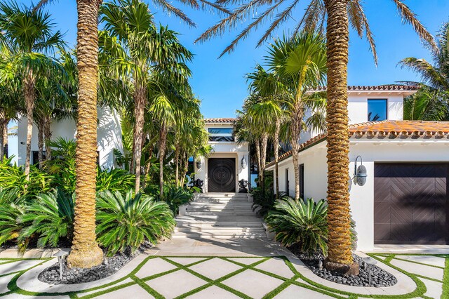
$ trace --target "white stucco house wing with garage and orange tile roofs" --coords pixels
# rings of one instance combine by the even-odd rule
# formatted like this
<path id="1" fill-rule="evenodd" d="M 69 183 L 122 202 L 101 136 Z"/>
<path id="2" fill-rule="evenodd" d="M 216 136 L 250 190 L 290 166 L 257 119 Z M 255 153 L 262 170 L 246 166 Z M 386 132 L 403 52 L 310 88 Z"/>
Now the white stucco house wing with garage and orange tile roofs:
<path id="1" fill-rule="evenodd" d="M 349 173 L 363 164 L 365 185 L 350 184 L 358 249 L 378 244 L 449 244 L 449 122 L 404 121 L 413 86 L 349 86 Z M 307 134 L 306 134 L 307 135 Z M 274 162 L 267 165 L 274 171 Z M 349 180 L 349 178 L 348 178 Z M 300 194 L 326 199 L 326 134 L 300 150 Z M 295 193 L 293 158 L 279 159 L 279 190 Z"/>

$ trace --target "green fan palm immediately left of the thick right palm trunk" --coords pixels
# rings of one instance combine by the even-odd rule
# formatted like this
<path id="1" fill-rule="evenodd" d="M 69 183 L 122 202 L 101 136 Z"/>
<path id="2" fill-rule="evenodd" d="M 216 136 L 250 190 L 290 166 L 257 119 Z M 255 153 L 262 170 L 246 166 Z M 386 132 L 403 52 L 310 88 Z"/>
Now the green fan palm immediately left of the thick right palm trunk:
<path id="1" fill-rule="evenodd" d="M 319 34 L 302 33 L 292 39 L 277 39 L 272 44 L 266 58 L 267 65 L 275 73 L 282 86 L 290 95 L 288 97 L 288 140 L 292 147 L 295 171 L 295 199 L 300 198 L 300 138 L 307 124 L 316 124 L 326 100 L 319 93 L 307 91 L 324 85 L 326 81 L 326 44 Z M 304 121 L 305 113 L 311 117 Z M 321 131 L 325 122 L 318 122 L 318 127 L 311 131 Z"/>

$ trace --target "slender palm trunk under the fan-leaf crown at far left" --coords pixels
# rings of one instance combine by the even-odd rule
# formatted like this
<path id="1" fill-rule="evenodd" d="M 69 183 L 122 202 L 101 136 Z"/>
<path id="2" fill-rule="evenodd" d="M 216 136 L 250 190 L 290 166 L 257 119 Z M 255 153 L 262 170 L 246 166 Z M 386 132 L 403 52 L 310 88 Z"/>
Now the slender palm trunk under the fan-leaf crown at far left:
<path id="1" fill-rule="evenodd" d="M 31 138 L 33 135 L 33 111 L 34 111 L 34 86 L 35 78 L 31 69 L 28 69 L 23 79 L 23 97 L 25 98 L 25 106 L 27 110 L 27 152 L 25 156 L 25 175 L 29 180 L 29 164 L 31 159 Z"/>

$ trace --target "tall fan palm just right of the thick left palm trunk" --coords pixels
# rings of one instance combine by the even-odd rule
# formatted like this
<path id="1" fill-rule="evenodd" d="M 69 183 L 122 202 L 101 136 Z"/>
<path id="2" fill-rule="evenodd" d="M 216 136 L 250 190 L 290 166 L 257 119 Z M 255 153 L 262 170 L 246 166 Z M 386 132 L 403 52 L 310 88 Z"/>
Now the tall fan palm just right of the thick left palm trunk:
<path id="1" fill-rule="evenodd" d="M 101 8 L 102 22 L 105 23 L 107 40 L 116 51 L 114 61 L 117 77 L 128 77 L 133 86 L 134 102 L 134 143 L 133 164 L 136 175 L 135 192 L 140 189 L 140 165 L 144 140 L 145 108 L 148 102 L 148 84 L 152 74 L 159 71 L 187 73 L 185 62 L 192 58 L 183 47 L 175 32 L 166 27 L 159 31 L 154 27 L 147 4 L 140 0 L 117 0 Z M 125 22 L 123 22 L 125 20 Z M 114 37 L 116 43 L 114 44 Z M 166 128 L 166 126 L 163 126 Z M 165 131 L 161 131 L 162 139 Z M 163 141 L 163 140 L 162 140 Z"/>

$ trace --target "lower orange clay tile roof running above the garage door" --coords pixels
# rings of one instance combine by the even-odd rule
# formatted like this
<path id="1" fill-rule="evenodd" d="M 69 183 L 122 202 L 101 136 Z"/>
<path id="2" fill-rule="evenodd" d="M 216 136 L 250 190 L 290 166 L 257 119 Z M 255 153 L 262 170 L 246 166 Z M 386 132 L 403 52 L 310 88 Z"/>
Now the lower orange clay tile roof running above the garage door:
<path id="1" fill-rule="evenodd" d="M 300 151 L 314 146 L 326 140 L 327 134 L 323 133 L 307 140 L 300 145 Z M 349 125 L 349 138 L 383 139 L 387 138 L 449 138 L 449 121 L 368 121 L 361 124 Z M 279 156 L 279 161 L 291 157 L 288 151 Z M 274 161 L 266 167 L 273 166 Z"/>

